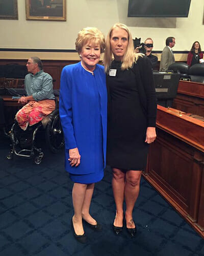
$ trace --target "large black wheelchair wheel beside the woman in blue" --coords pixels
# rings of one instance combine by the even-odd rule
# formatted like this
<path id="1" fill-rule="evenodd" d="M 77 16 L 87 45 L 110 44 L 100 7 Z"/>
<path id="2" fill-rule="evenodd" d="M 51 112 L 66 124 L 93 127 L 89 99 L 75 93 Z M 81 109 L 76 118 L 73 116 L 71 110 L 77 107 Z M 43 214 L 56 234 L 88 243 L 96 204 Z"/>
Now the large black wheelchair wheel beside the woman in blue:
<path id="1" fill-rule="evenodd" d="M 55 110 L 46 127 L 46 141 L 50 151 L 57 153 L 64 146 L 64 135 L 60 122 L 59 111 Z"/>

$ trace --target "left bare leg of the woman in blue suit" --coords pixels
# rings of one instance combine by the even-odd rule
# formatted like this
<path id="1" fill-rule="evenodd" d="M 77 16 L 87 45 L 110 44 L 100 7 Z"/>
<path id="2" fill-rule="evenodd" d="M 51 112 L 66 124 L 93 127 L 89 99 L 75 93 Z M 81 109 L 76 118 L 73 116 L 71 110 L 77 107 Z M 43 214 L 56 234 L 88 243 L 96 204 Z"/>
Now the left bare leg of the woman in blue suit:
<path id="1" fill-rule="evenodd" d="M 77 235 L 84 234 L 82 224 L 82 207 L 86 195 L 87 184 L 74 183 L 72 189 L 72 202 L 74 215 L 72 218 L 74 231 Z"/>

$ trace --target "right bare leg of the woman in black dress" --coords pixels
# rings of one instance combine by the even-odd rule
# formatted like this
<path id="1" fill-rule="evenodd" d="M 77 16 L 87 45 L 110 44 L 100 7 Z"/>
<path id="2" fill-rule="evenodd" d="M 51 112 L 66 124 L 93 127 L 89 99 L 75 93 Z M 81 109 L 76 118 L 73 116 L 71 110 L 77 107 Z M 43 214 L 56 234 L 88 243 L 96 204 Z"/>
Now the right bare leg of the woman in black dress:
<path id="1" fill-rule="evenodd" d="M 135 227 L 133 221 L 133 209 L 139 195 L 141 175 L 141 170 L 128 170 L 125 175 L 124 196 L 126 203 L 125 220 L 127 228 Z"/>

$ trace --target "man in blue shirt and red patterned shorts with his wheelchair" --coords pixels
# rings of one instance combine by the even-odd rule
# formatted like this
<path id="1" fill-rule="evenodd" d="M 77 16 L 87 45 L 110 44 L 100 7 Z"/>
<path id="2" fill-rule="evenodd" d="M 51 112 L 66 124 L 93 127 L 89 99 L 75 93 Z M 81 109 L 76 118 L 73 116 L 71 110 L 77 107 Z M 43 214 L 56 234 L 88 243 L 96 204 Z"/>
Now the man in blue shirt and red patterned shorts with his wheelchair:
<path id="1" fill-rule="evenodd" d="M 30 57 L 26 66 L 30 72 L 24 80 L 27 96 L 18 100 L 25 105 L 16 113 L 16 122 L 10 132 L 12 149 L 7 158 L 12 159 L 13 153 L 23 157 L 32 157 L 37 153 L 35 162 L 40 163 L 43 153 L 41 148 L 35 146 L 34 139 L 41 121 L 49 115 L 45 138 L 54 153 L 64 145 L 63 132 L 59 111 L 56 109 L 52 76 L 43 71 L 42 61 L 38 57 Z"/>

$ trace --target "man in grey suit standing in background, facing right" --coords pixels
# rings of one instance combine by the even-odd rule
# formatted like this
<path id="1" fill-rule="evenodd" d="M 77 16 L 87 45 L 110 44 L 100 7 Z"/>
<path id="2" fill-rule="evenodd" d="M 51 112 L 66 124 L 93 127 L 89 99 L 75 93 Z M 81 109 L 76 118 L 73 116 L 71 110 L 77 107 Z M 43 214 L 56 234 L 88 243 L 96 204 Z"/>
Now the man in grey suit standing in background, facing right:
<path id="1" fill-rule="evenodd" d="M 166 38 L 166 46 L 162 52 L 161 61 L 160 61 L 160 71 L 167 71 L 168 67 L 175 62 L 172 48 L 175 45 L 175 38 L 170 36 Z"/>

